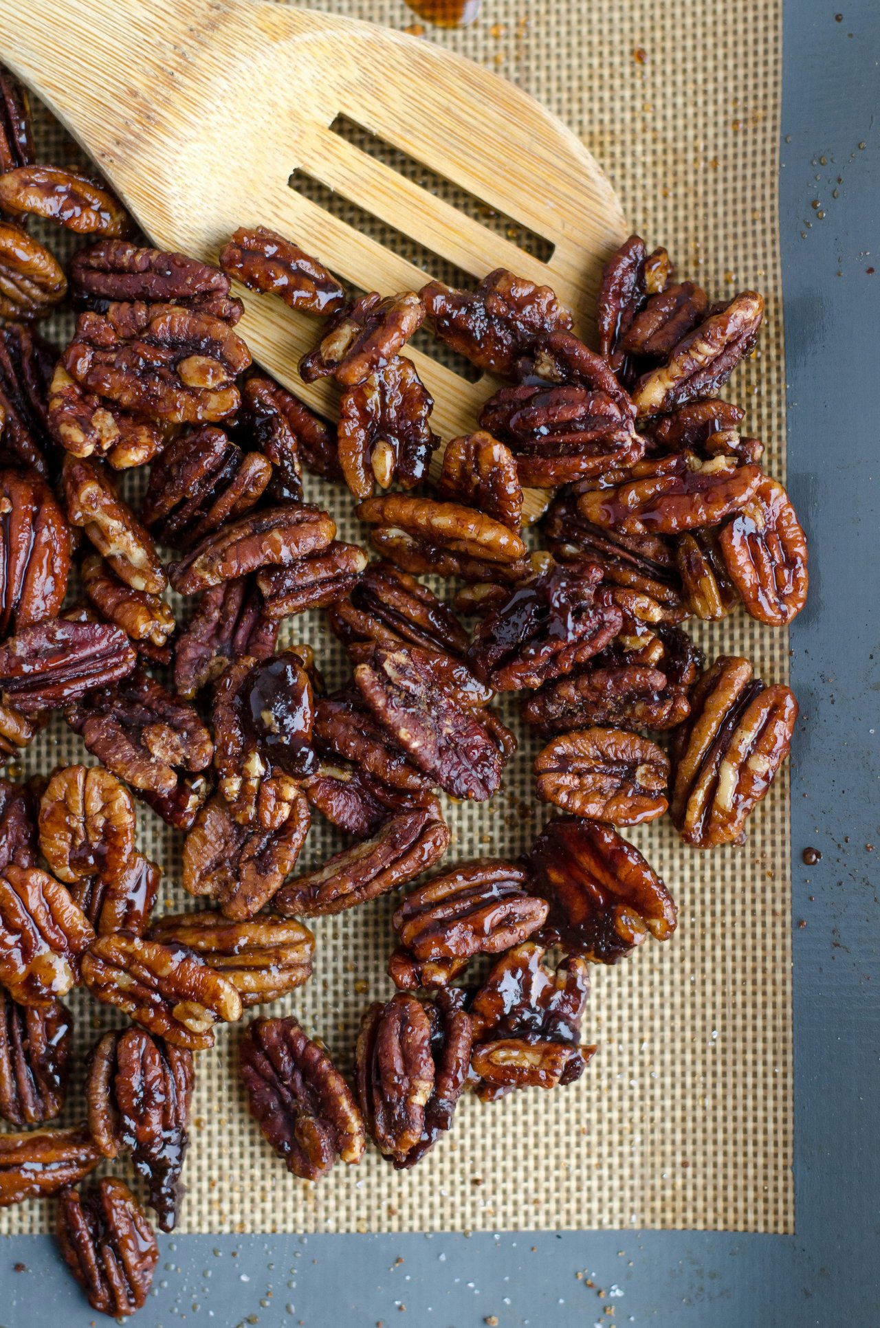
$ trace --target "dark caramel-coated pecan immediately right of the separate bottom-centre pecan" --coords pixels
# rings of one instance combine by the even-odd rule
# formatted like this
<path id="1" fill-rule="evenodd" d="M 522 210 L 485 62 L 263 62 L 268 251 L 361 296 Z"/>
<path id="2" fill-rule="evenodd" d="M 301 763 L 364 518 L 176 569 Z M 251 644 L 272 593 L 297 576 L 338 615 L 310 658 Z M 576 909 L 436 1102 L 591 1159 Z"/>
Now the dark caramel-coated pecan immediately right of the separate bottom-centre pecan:
<path id="1" fill-rule="evenodd" d="M 388 1005 L 368 1005 L 354 1054 L 369 1135 L 396 1167 L 414 1166 L 451 1126 L 467 1081 L 463 992 L 438 992 L 433 1004 L 398 992 Z"/>

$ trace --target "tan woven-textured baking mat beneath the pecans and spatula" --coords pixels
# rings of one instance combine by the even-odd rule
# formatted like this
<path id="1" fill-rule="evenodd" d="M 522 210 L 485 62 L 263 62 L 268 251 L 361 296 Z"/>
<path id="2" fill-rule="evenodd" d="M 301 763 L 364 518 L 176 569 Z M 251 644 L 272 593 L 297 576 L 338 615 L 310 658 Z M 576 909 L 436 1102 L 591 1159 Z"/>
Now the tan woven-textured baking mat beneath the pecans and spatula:
<path id="1" fill-rule="evenodd" d="M 400 0 L 324 8 L 396 28 L 414 21 Z M 609 173 L 633 227 L 668 244 L 678 271 L 711 297 L 765 292 L 759 353 L 738 371 L 733 396 L 767 445 L 770 471 L 784 477 L 779 0 L 484 0 L 474 28 L 431 29 L 429 40 L 496 68 L 563 116 Z M 46 159 L 57 157 L 45 117 L 40 137 Z M 320 254 L 319 236 L 297 239 Z M 333 511 L 342 538 L 354 534 L 338 489 L 311 479 L 308 497 Z M 330 681 L 341 677 L 340 648 L 320 622 L 296 620 L 293 635 L 319 645 Z M 769 681 L 787 676 L 784 632 L 738 612 L 698 635 L 709 652 L 750 656 Z M 532 754 L 524 736 L 491 806 L 447 801 L 447 861 L 526 849 L 543 819 L 530 798 Z M 27 769 L 81 758 L 80 740 L 57 725 L 35 744 Z M 146 810 L 139 825 L 143 849 L 166 871 L 163 907 L 186 906 L 175 884 L 179 837 Z M 595 969 L 584 1037 L 600 1052 L 579 1084 L 492 1106 L 466 1100 L 451 1135 L 413 1171 L 394 1171 L 370 1151 L 360 1167 L 340 1166 L 313 1186 L 287 1174 L 248 1120 L 234 1072 L 239 1031 L 227 1031 L 216 1052 L 198 1057 L 181 1230 L 792 1231 L 786 780 L 753 817 L 745 847 L 701 855 L 682 849 L 668 823 L 632 838 L 672 888 L 680 926 L 672 943 L 648 942 L 619 967 Z M 336 845 L 316 823 L 303 861 Z M 273 1007 L 296 1011 L 345 1068 L 365 1003 L 392 993 L 384 969 L 393 907 L 386 898 L 319 920 L 313 981 Z M 111 1015 L 81 993 L 70 1004 L 81 1060 Z M 82 1110 L 80 1082 L 81 1072 L 68 1120 Z M 1 1220 L 5 1231 L 41 1231 L 50 1212 L 32 1204 Z"/>

